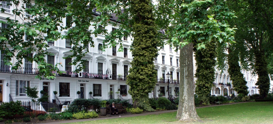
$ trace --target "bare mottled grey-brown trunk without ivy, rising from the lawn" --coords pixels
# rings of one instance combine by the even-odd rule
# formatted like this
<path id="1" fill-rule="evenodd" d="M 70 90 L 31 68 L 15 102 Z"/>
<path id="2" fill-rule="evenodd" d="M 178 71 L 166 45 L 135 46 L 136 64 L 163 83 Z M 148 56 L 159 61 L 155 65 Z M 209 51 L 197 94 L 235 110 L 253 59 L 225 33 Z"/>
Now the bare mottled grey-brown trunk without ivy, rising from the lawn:
<path id="1" fill-rule="evenodd" d="M 193 43 L 180 49 L 180 92 L 176 119 L 181 121 L 198 120 L 194 104 Z"/>

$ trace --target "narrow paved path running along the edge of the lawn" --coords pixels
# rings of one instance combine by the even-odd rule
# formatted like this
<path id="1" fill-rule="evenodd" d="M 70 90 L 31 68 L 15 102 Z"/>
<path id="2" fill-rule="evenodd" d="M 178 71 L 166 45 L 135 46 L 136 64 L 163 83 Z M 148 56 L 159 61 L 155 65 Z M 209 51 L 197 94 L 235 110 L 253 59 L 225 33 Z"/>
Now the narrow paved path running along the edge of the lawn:
<path id="1" fill-rule="evenodd" d="M 195 107 L 195 108 L 206 108 L 206 107 L 214 107 L 214 106 L 239 104 L 239 103 L 246 103 L 246 102 L 237 102 L 237 103 L 211 105 L 211 106 L 201 106 L 201 107 Z M 167 111 L 146 112 L 146 113 L 141 113 L 141 114 L 120 115 L 120 117 L 118 115 L 115 115 L 115 116 L 111 116 L 111 117 L 100 117 L 100 118 L 93 118 L 93 119 L 78 119 L 78 120 L 75 119 L 75 120 L 67 120 L 67 121 L 50 122 L 50 123 L 44 123 L 44 124 L 62 124 L 62 123 L 75 123 L 75 122 L 95 121 L 95 120 L 104 120 L 104 119 L 116 119 L 116 118 L 124 118 L 124 117 L 143 116 L 143 115 L 155 115 L 155 114 L 169 113 L 169 112 L 175 112 L 175 111 L 177 111 L 177 110 L 167 110 Z"/>

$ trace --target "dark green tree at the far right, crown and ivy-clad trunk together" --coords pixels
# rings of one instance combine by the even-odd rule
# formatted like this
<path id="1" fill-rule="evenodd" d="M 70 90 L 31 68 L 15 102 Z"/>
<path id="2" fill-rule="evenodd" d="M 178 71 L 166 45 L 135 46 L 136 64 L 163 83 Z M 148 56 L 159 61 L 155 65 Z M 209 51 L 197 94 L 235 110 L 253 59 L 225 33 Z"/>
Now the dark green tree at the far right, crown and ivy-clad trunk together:
<path id="1" fill-rule="evenodd" d="M 258 75 L 257 83 L 262 97 L 268 94 L 270 78 L 268 63 L 273 52 L 273 1 L 227 1 L 238 18 L 230 20 L 239 29 L 235 35 L 236 48 L 244 69 Z M 269 61 L 268 61 L 269 60 Z"/>

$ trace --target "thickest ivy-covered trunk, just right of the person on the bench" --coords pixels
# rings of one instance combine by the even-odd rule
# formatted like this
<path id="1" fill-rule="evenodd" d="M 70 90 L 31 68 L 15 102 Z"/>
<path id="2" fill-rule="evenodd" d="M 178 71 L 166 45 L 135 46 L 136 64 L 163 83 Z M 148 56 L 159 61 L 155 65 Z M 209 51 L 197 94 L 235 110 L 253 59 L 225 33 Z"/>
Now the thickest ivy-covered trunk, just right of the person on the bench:
<path id="1" fill-rule="evenodd" d="M 134 38 L 131 51 L 134 57 L 132 67 L 127 76 L 128 91 L 137 102 L 147 102 L 148 94 L 157 83 L 157 72 L 154 69 L 154 58 L 158 56 L 159 41 L 156 38 L 158 32 L 154 23 L 154 13 L 151 0 L 132 0 L 130 13 L 132 15 L 132 36 Z M 146 99 L 146 100 L 145 100 Z"/>

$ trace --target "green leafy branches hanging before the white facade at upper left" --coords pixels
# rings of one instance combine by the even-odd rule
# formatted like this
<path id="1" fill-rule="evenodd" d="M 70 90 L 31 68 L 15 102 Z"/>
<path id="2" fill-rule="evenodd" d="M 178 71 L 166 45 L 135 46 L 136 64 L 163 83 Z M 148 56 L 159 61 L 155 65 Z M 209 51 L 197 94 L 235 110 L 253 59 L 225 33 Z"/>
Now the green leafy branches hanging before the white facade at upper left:
<path id="1" fill-rule="evenodd" d="M 52 55 L 47 51 L 50 42 L 54 44 L 54 41 L 58 39 L 71 39 L 70 45 L 72 45 L 71 52 L 73 54 L 64 58 L 73 57 L 70 64 L 77 65 L 75 71 L 78 72 L 84 67 L 83 57 L 89 49 L 85 46 L 94 47 L 92 35 L 105 34 L 106 38 L 111 40 L 108 44 L 110 46 L 116 44 L 113 42 L 115 39 L 119 39 L 120 42 L 123 36 L 121 34 L 123 30 L 107 32 L 105 27 L 111 14 L 108 13 L 109 11 L 103 10 L 113 7 L 104 8 L 105 5 L 99 0 L 12 0 L 8 5 L 13 6 L 14 9 L 11 13 L 14 14 L 12 17 L 15 19 L 8 17 L 6 21 L 0 21 L 2 25 L 5 25 L 2 26 L 0 35 L 0 50 L 5 53 L 5 65 L 12 65 L 10 61 L 13 57 L 17 60 L 12 66 L 12 69 L 15 70 L 23 65 L 23 58 L 34 61 L 38 64 L 40 72 L 36 78 L 41 79 L 41 76 L 44 75 L 44 77 L 52 79 L 55 78 L 52 74 L 53 71 L 61 73 L 58 64 L 51 65 L 45 60 L 46 55 Z M 26 8 L 25 5 L 28 7 Z M 98 7 L 97 11 L 101 11 L 101 13 L 94 16 L 93 9 L 96 7 Z M 1 12 L 4 11 L 6 10 L 1 8 Z M 63 23 L 65 19 L 66 23 Z M 95 27 L 102 25 L 104 29 L 91 30 L 92 25 Z M 113 26 L 115 25 L 116 23 L 113 23 Z M 64 31 L 66 34 L 62 35 L 61 32 Z M 33 57 L 29 56 L 30 53 L 34 53 Z"/>

